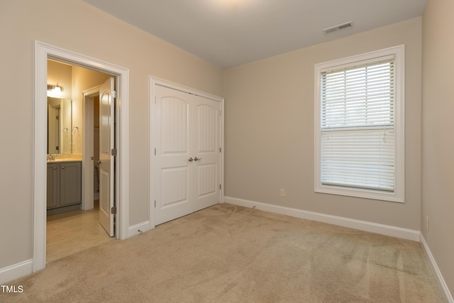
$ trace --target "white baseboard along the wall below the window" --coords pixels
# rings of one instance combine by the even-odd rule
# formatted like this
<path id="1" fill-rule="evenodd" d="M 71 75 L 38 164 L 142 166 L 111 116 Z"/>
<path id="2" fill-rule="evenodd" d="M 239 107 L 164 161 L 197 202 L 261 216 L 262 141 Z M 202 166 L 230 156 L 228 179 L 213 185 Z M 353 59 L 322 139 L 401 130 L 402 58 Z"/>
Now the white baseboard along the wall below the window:
<path id="1" fill-rule="evenodd" d="M 230 204 L 236 204 L 245 207 L 254 207 L 262 211 L 270 211 L 276 214 L 284 214 L 287 216 L 294 216 L 300 219 L 308 219 L 313 221 L 320 221 L 328 224 L 334 224 L 338 226 L 350 227 L 359 229 L 361 231 L 369 231 L 371 233 L 380 233 L 385 236 L 392 236 L 396 238 L 404 238 L 411 241 L 420 240 L 419 231 L 412 229 L 400 228 L 395 226 L 389 226 L 384 224 L 377 224 L 367 221 L 360 221 L 356 219 L 344 218 L 342 216 L 331 216 L 328 214 L 316 213 L 313 211 L 304 211 L 301 209 L 293 209 L 290 207 L 279 206 L 274 204 L 267 204 L 262 202 L 254 202 L 245 199 L 238 199 L 233 197 L 224 197 L 224 202 Z"/>

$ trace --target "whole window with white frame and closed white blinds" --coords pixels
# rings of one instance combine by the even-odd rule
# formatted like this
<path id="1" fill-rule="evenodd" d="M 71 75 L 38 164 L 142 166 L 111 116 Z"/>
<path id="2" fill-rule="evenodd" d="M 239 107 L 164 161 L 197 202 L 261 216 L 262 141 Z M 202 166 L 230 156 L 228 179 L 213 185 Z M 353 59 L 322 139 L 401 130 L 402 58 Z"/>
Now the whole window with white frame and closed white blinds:
<path id="1" fill-rule="evenodd" d="M 315 191 L 404 202 L 404 46 L 315 65 Z"/>

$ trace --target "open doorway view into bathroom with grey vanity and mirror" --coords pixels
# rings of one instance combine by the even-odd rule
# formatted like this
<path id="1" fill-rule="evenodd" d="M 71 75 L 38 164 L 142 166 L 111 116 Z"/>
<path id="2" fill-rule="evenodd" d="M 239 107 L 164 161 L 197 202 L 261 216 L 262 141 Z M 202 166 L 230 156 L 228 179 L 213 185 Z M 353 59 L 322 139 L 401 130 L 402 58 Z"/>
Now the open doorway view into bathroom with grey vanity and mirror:
<path id="1" fill-rule="evenodd" d="M 61 129 L 60 135 L 58 131 L 55 131 L 56 137 L 60 138 L 57 143 L 60 144 L 55 144 L 55 140 L 53 140 L 54 145 L 52 145 L 48 139 L 48 148 L 52 148 L 52 158 L 55 160 L 48 161 L 47 263 L 110 241 L 111 236 L 114 236 L 114 226 L 111 226 L 109 220 L 111 211 L 106 218 L 106 207 L 104 209 L 99 207 L 99 193 L 101 192 L 99 182 L 99 91 L 101 84 L 106 82 L 109 85 L 109 91 L 114 91 L 114 83 L 110 82 L 115 82 L 115 77 L 111 77 L 109 74 L 48 59 L 48 87 L 52 88 L 52 84 L 59 86 L 58 92 L 48 90 L 48 95 L 52 95 L 52 100 L 62 99 L 64 101 L 62 101 L 60 116 L 57 116 L 56 119 L 57 123 L 61 124 L 57 128 Z M 69 109 L 66 109 L 65 105 Z M 52 118 L 53 115 L 49 114 L 49 134 L 52 131 L 51 124 L 55 123 L 55 119 Z M 107 125 L 107 127 L 111 126 Z M 109 136 L 109 131 L 104 132 L 104 136 L 106 135 Z M 52 138 L 52 136 L 48 136 L 48 138 Z M 110 138 L 107 139 L 104 142 L 109 142 Z M 55 145 L 57 145 L 56 148 L 54 148 Z M 67 162 L 69 160 L 74 162 Z M 77 174 L 78 178 L 69 179 L 70 164 L 83 168 Z M 49 167 L 53 167 L 53 170 L 49 170 Z M 60 167 L 65 170 L 61 170 Z M 66 197 L 63 197 L 63 191 L 60 195 L 54 194 L 58 192 L 56 190 L 49 192 L 52 188 L 52 184 L 49 182 L 55 179 L 61 179 L 61 181 L 57 181 L 60 181 L 60 187 L 65 189 L 75 187 L 74 184 L 79 184 L 79 186 L 75 187 L 74 191 L 66 190 Z M 68 181 L 71 184 L 63 184 Z M 109 182 L 107 187 L 109 189 Z M 101 199 L 106 200 L 109 194 L 109 192 L 104 192 Z M 67 197 L 69 195 L 72 197 Z M 50 203 L 55 200 L 57 200 L 56 203 Z M 108 204 L 104 203 L 104 205 Z"/>

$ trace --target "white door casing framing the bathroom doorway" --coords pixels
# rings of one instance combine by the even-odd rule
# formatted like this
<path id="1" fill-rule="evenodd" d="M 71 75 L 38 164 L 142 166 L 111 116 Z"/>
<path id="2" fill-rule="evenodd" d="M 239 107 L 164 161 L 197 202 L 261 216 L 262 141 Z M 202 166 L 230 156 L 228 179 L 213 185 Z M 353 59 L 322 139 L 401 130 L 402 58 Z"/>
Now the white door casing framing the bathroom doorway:
<path id="1" fill-rule="evenodd" d="M 116 76 L 116 238 L 128 236 L 129 225 L 129 70 L 109 62 L 87 57 L 48 43 L 34 44 L 34 134 L 33 134 L 33 272 L 45 268 L 46 257 L 46 142 L 47 142 L 47 60 L 48 58 L 79 65 Z"/>

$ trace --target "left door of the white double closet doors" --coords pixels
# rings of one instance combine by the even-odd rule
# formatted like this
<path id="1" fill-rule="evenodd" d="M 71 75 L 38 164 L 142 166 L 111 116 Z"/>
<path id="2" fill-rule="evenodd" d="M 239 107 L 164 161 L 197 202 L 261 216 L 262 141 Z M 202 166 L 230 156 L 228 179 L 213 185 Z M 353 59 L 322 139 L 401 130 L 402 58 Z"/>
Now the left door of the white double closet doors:
<path id="1" fill-rule="evenodd" d="M 156 87 L 156 224 L 191 211 L 189 103 L 182 92 Z"/>

